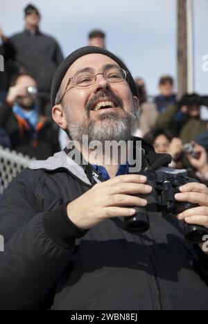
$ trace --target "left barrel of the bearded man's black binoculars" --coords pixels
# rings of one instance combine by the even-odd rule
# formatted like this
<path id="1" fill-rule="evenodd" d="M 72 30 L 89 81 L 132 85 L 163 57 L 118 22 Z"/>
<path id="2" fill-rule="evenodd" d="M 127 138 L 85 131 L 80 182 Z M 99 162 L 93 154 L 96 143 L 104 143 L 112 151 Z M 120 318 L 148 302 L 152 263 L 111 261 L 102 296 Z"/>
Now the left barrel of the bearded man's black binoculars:
<path id="1" fill-rule="evenodd" d="M 152 206 L 155 203 L 155 197 L 157 197 L 157 192 L 154 190 L 157 174 L 154 171 L 146 171 L 140 174 L 147 177 L 148 181 L 146 184 L 153 187 L 153 192 L 150 192 L 150 194 L 146 195 L 139 195 L 139 198 L 143 198 L 148 201 L 148 206 L 132 206 L 132 208 L 136 210 L 135 215 L 132 217 L 124 217 L 125 230 L 130 233 L 137 234 L 145 233 L 150 228 L 148 207 Z"/>

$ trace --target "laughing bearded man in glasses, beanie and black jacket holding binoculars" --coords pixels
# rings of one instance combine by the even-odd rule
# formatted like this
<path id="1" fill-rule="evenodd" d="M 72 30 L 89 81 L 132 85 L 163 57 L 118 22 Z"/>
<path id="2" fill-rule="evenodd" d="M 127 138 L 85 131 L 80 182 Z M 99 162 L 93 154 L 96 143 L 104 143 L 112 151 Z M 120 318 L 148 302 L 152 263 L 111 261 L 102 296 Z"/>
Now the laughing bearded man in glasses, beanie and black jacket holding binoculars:
<path id="1" fill-rule="evenodd" d="M 106 141 L 133 141 L 143 172 L 176 171 L 165 168 L 170 156 L 131 136 L 139 98 L 125 64 L 102 48 L 78 49 L 55 73 L 51 102 L 73 141 L 31 163 L 0 199 L 0 309 L 208 309 L 206 244 L 193 248 L 179 220 L 157 210 L 146 233 L 126 231 L 123 217 L 144 208 L 152 188 Z M 178 219 L 208 228 L 207 187 L 180 191 L 177 201 L 199 206 Z"/>

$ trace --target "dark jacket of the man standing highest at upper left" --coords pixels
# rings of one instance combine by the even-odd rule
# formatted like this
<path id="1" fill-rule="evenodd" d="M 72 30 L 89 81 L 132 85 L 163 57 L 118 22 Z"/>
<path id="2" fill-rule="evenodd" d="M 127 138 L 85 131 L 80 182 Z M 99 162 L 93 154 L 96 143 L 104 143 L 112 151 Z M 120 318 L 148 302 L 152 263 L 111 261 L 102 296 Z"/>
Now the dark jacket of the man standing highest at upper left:
<path id="1" fill-rule="evenodd" d="M 24 30 L 4 43 L 5 60 L 13 60 L 16 73 L 20 68 L 34 76 L 40 91 L 50 92 L 53 74 L 64 59 L 56 40 L 37 30 Z"/>

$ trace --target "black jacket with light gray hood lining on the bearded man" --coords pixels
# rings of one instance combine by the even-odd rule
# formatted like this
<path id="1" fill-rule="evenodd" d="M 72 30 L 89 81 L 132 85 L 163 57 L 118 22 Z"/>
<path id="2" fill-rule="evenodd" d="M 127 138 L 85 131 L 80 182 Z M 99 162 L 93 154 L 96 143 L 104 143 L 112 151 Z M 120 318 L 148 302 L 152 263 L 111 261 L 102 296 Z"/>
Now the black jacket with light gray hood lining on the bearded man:
<path id="1" fill-rule="evenodd" d="M 143 147 L 154 170 L 170 162 Z M 12 181 L 0 200 L 0 309 L 208 309 L 208 256 L 177 219 L 153 213 L 143 235 L 119 217 L 80 231 L 66 205 L 90 188 L 64 151 Z"/>

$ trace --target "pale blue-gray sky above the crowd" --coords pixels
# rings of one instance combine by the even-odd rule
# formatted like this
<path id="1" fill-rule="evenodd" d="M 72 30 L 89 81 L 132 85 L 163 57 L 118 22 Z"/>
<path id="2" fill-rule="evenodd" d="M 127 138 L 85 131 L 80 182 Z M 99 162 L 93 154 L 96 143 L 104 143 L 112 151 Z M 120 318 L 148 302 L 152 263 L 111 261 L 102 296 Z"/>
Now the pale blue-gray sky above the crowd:
<path id="1" fill-rule="evenodd" d="M 157 93 L 162 74 L 176 78 L 176 0 L 1 0 L 0 24 L 6 35 L 21 31 L 23 8 L 33 3 L 42 13 L 41 29 L 53 35 L 64 55 L 87 44 L 87 33 L 101 28 L 107 48 L 119 55 L 134 77 L 146 80 L 150 94 Z M 202 57 L 208 55 L 208 0 L 193 0 L 196 91 L 208 93 L 208 72 Z"/>

